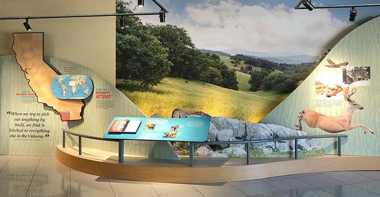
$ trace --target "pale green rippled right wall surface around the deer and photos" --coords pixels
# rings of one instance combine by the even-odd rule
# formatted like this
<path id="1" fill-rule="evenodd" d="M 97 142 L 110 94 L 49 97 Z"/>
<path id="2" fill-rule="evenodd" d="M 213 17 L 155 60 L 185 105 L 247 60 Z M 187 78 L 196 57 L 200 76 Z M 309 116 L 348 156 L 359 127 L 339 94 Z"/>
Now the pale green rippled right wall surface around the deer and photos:
<path id="1" fill-rule="evenodd" d="M 327 57 L 316 67 L 316 69 L 304 80 L 304 82 L 273 109 L 261 123 L 278 124 L 292 129 L 298 124 L 297 114 L 304 108 L 315 110 L 324 115 L 337 116 L 342 114 L 346 108 L 346 101 L 342 94 L 331 98 L 323 98 L 315 94 L 315 81 L 317 76 L 325 76 L 326 80 L 332 83 L 342 82 L 341 68 L 327 67 L 327 59 L 330 58 L 335 63 L 348 62 L 347 66 L 370 66 L 371 79 L 369 86 L 358 86 L 351 84 L 349 87 L 357 88 L 357 92 L 352 95 L 357 103 L 364 107 L 362 110 L 355 110 L 352 115 L 352 124 L 362 124 L 371 128 L 375 134 L 364 134 L 364 130 L 356 128 L 350 131 L 340 132 L 347 134 L 348 138 L 342 141 L 342 154 L 345 155 L 372 155 L 379 156 L 380 148 L 380 17 L 377 17 L 352 32 L 348 33 L 334 48 Z M 312 43 L 310 43 L 312 44 Z M 321 100 L 333 103 L 332 106 L 320 104 Z M 304 131 L 309 135 L 329 134 L 318 128 L 309 128 L 303 122 Z M 336 153 L 335 139 L 319 140 L 326 149 L 327 154 Z"/>

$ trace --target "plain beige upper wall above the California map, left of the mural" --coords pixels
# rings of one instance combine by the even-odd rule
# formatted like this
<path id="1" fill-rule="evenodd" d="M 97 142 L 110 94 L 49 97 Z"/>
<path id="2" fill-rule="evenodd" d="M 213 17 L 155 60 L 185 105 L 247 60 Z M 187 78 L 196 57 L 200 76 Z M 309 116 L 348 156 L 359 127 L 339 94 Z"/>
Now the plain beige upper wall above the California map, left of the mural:
<path id="1" fill-rule="evenodd" d="M 0 17 L 114 13 L 115 0 L 0 0 Z M 14 55 L 12 33 L 27 32 L 25 20 L 0 21 L 0 55 Z M 115 84 L 115 18 L 31 19 L 44 32 L 44 56 L 89 67 Z"/>

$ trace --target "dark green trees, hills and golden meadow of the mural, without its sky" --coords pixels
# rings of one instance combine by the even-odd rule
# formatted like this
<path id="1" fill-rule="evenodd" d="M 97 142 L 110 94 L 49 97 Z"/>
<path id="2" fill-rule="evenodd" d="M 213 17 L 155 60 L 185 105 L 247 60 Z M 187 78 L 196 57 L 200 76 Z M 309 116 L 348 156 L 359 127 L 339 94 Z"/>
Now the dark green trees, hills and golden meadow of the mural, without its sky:
<path id="1" fill-rule="evenodd" d="M 121 0 L 116 11 L 130 12 Z M 318 65 L 197 49 L 184 28 L 124 22 L 116 26 L 116 87 L 148 117 L 181 109 L 258 122 Z"/>

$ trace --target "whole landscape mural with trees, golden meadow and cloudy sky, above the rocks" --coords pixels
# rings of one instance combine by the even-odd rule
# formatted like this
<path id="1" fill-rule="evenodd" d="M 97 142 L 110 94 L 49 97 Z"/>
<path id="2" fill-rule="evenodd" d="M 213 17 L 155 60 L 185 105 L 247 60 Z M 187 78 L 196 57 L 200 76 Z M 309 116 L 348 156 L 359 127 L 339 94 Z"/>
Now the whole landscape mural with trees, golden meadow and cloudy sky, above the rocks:
<path id="1" fill-rule="evenodd" d="M 250 122 L 294 91 L 346 33 L 380 14 L 368 8 L 351 23 L 349 9 L 294 10 L 294 1 L 165 3 L 166 24 L 149 16 L 128 17 L 124 29 L 117 23 L 116 87 L 147 116 L 178 108 Z M 152 11 L 121 4 L 117 10 Z M 324 65 L 348 62 L 331 57 Z"/>

